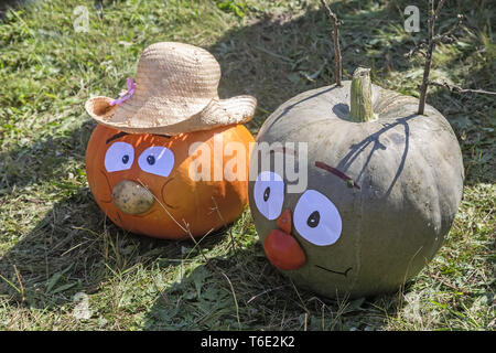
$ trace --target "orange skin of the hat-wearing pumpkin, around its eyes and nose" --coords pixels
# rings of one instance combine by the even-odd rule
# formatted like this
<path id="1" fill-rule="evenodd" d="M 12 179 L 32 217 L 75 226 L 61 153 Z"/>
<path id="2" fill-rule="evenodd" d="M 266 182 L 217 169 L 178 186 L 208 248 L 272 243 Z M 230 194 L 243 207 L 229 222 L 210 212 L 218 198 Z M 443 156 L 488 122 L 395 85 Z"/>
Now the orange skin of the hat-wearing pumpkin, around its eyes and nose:
<path id="1" fill-rule="evenodd" d="M 235 221 L 244 211 L 247 197 L 248 176 L 245 180 L 194 181 L 190 178 L 190 163 L 197 153 L 188 156 L 190 146 L 204 142 L 211 151 L 211 171 L 222 163 L 224 169 L 233 156 L 214 157 L 214 136 L 225 143 L 236 141 L 245 147 L 244 158 L 248 161 L 251 133 L 241 125 L 205 131 L 181 133 L 173 137 L 159 135 L 125 135 L 108 143 L 118 130 L 98 125 L 86 150 L 86 174 L 89 188 L 98 206 L 118 226 L 137 234 L 157 238 L 186 239 L 190 229 L 194 237 L 203 236 Z M 105 156 L 108 148 L 117 142 L 127 142 L 134 149 L 134 160 L 128 170 L 108 172 Z M 149 147 L 169 148 L 174 154 L 174 165 L 168 176 L 143 171 L 138 164 L 139 156 Z M 222 150 L 220 150 L 222 152 Z M 247 169 L 247 168 L 246 168 Z M 248 170 L 246 170 L 248 175 Z M 119 210 L 112 200 L 112 190 L 123 180 L 143 184 L 153 194 L 150 210 L 140 214 L 128 214 Z M 118 188 L 117 188 L 118 189 Z M 215 200 L 215 201 L 214 201 Z M 175 220 L 175 221 L 174 221 Z M 176 223 L 177 222 L 177 223 Z"/>

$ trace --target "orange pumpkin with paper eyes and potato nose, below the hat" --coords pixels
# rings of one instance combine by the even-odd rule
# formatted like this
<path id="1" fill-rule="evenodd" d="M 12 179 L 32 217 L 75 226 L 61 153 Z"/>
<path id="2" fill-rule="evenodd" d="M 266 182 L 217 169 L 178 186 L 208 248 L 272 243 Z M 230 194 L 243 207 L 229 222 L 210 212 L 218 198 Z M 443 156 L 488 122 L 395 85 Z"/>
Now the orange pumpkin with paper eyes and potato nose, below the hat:
<path id="1" fill-rule="evenodd" d="M 223 154 L 233 141 L 244 150 Z M 252 141 L 241 125 L 173 137 L 123 133 L 98 125 L 86 150 L 89 188 L 99 207 L 127 231 L 169 239 L 190 238 L 188 232 L 203 236 L 242 212 L 248 170 L 235 167 L 236 175 L 229 178 L 225 171 L 230 169 L 225 167 L 233 158 L 248 161 Z M 197 158 L 207 161 L 198 164 L 200 169 L 224 173 L 220 178 L 192 178 Z M 245 178 L 239 178 L 242 173 Z"/>

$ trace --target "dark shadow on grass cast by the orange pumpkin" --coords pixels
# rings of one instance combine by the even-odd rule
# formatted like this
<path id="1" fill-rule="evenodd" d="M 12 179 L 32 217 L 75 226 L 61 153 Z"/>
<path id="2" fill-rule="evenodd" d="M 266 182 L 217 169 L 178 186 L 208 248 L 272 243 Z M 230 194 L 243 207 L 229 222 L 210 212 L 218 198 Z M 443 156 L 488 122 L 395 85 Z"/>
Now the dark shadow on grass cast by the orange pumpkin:
<path id="1" fill-rule="evenodd" d="M 117 227 L 88 188 L 43 213 L 33 229 L 0 257 L 0 296 L 15 307 L 66 310 L 65 303 L 98 291 L 119 274 L 147 270 L 151 264 L 174 267 L 194 249 L 192 240 L 149 238 Z M 224 231 L 209 234 L 203 248 L 220 242 Z"/>

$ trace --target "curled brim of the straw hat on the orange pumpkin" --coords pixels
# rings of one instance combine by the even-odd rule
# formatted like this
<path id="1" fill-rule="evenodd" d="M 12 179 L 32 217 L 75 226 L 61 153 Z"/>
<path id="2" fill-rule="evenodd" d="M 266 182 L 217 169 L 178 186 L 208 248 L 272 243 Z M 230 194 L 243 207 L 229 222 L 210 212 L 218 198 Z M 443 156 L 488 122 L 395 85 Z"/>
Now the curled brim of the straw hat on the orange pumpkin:
<path id="1" fill-rule="evenodd" d="M 109 97 L 98 96 L 86 101 L 86 111 L 98 122 L 129 133 L 179 135 L 209 130 L 220 126 L 244 124 L 254 117 L 257 99 L 242 95 L 228 99 L 212 99 L 200 111 L 190 116 L 173 117 L 174 124 L 150 119 L 149 109 L 138 109 L 126 120 L 115 119 L 119 106 L 110 106 Z M 157 107 L 160 110 L 160 107 Z M 158 114 L 159 115 L 159 114 Z"/>

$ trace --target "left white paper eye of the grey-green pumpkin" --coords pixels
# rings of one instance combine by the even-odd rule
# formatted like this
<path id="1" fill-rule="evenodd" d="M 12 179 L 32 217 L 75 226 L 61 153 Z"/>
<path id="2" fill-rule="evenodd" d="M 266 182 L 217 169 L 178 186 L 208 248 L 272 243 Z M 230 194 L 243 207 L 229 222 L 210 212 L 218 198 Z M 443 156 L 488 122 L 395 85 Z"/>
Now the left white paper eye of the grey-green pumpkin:
<path id="1" fill-rule="evenodd" d="M 281 214 L 284 202 L 284 181 L 273 172 L 261 172 L 255 182 L 254 199 L 258 211 L 267 220 L 276 220 Z"/>

